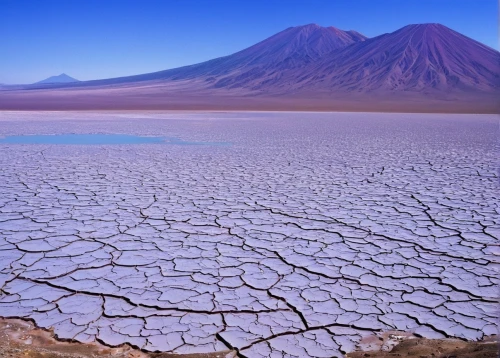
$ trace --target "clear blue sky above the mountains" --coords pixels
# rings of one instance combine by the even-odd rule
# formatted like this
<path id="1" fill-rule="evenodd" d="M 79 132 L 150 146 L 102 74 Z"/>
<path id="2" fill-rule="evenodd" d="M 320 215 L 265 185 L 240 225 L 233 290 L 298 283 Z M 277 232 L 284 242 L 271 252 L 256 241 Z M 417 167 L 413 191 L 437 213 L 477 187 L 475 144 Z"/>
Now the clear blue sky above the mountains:
<path id="1" fill-rule="evenodd" d="M 497 0 L 0 0 L 0 83 L 159 71 L 308 23 L 373 37 L 438 22 L 498 49 L 497 21 Z"/>

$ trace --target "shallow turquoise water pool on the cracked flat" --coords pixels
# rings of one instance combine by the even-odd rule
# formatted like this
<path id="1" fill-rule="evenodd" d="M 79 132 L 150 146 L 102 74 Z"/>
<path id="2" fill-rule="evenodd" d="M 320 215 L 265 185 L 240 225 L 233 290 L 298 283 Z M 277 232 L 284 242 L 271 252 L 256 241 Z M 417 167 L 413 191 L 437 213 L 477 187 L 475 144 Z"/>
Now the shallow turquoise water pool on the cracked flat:
<path id="1" fill-rule="evenodd" d="M 169 137 L 141 137 L 128 134 L 54 134 L 13 135 L 0 137 L 0 144 L 176 144 L 176 145 L 226 145 L 217 142 L 187 142 Z"/>

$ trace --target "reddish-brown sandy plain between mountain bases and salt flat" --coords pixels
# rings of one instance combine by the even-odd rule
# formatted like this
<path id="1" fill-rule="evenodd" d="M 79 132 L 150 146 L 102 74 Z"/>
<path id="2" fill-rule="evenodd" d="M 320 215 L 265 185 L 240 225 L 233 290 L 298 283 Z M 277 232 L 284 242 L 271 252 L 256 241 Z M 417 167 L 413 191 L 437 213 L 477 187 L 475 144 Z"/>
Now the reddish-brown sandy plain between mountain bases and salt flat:
<path id="1" fill-rule="evenodd" d="M 177 84 L 175 84 L 177 85 Z M 184 86 L 0 92 L 0 110 L 252 110 L 408 113 L 500 113 L 495 94 L 440 98 L 420 93 L 251 95 L 242 91 L 190 92 Z"/>

